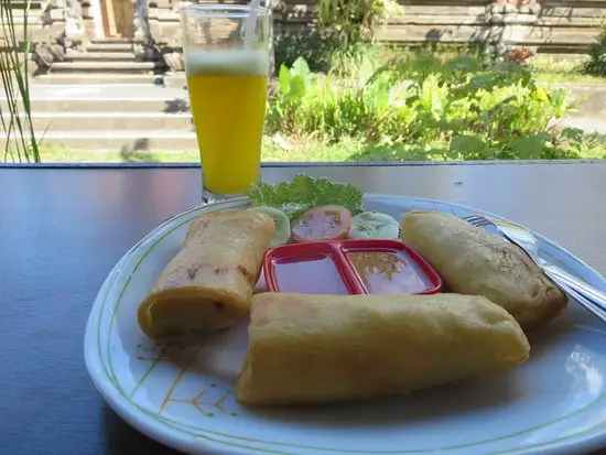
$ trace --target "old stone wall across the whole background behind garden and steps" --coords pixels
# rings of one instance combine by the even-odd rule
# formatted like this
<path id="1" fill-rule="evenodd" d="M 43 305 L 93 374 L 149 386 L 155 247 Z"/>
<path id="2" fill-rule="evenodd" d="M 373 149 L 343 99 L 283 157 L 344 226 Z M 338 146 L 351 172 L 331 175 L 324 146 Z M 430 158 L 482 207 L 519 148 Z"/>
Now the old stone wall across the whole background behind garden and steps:
<path id="1" fill-rule="evenodd" d="M 217 0 L 125 0 L 137 10 L 136 39 L 144 42 L 141 58 L 164 58 L 182 69 L 178 12 L 191 2 Z M 220 1 L 220 0 L 219 0 Z M 273 7 L 274 33 L 296 32 L 314 20 L 315 0 L 268 0 Z M 403 14 L 377 30 L 381 41 L 400 44 L 424 42 L 501 42 L 537 47 L 543 53 L 585 53 L 606 14 L 606 0 L 401 0 Z M 246 0 L 223 0 L 241 3 Z M 28 17 L 34 43 L 52 42 L 63 31 L 94 36 L 91 0 L 33 1 Z M 18 33 L 23 35 L 25 2 L 13 0 Z M 76 21 L 71 15 L 78 15 Z M 147 20 L 145 20 L 147 17 Z M 153 43 L 153 46 L 152 46 Z M 0 43 L 0 51 L 2 43 Z M 148 52 L 148 51 L 153 52 Z M 143 55 L 144 54 L 144 55 Z"/>

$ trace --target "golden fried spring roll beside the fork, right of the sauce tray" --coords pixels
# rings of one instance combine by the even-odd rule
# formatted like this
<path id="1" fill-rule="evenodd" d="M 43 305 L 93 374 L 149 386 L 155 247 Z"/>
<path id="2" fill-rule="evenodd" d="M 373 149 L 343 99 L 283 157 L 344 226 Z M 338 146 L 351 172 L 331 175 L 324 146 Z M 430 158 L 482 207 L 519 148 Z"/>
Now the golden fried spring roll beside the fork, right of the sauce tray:
<path id="1" fill-rule="evenodd" d="M 454 215 L 412 212 L 402 241 L 419 251 L 453 292 L 485 295 L 530 329 L 555 317 L 566 295 L 518 247 Z"/>

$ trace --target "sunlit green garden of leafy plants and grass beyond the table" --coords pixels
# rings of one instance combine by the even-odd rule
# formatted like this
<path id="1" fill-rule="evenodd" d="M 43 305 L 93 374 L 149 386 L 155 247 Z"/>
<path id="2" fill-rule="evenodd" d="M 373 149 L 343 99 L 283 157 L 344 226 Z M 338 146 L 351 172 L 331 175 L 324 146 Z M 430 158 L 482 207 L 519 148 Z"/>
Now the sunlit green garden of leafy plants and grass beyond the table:
<path id="1" fill-rule="evenodd" d="M 378 43 L 374 32 L 396 2 L 317 1 L 310 28 L 274 39 L 263 161 L 606 158 L 605 136 L 560 124 L 577 101 L 551 84 L 606 80 L 606 25 L 583 63 L 541 64 L 523 48 L 494 44 Z M 14 34 L 10 22 L 2 26 L 4 35 Z M 86 161 L 34 138 L 26 68 L 11 53 L 1 58 L 4 93 L 23 99 L 21 110 L 13 108 L 25 113 L 0 111 L 15 138 L 7 141 L 4 161 Z M 11 77 L 10 68 L 20 69 Z M 118 153 L 96 154 L 96 161 L 116 160 L 122 161 Z M 159 150 L 129 160 L 195 162 L 198 154 Z"/>

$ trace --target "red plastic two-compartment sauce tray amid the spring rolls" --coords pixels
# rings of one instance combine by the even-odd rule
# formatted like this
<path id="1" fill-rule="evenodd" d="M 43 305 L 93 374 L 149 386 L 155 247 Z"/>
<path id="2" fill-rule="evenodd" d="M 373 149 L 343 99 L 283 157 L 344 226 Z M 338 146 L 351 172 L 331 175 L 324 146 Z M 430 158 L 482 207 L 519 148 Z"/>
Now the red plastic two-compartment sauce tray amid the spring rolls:
<path id="1" fill-rule="evenodd" d="M 437 272 L 397 240 L 284 245 L 266 253 L 268 290 L 303 294 L 434 294 Z"/>

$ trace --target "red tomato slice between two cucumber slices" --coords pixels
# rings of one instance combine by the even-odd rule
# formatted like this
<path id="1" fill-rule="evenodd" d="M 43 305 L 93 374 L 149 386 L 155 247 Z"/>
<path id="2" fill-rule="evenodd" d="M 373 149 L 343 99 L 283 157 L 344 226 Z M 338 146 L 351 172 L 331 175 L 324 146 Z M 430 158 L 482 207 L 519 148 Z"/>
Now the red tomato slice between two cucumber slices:
<path id="1" fill-rule="evenodd" d="M 310 208 L 292 223 L 292 239 L 296 243 L 338 240 L 349 237 L 351 212 L 338 205 Z"/>

